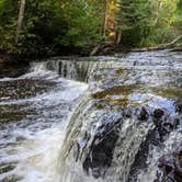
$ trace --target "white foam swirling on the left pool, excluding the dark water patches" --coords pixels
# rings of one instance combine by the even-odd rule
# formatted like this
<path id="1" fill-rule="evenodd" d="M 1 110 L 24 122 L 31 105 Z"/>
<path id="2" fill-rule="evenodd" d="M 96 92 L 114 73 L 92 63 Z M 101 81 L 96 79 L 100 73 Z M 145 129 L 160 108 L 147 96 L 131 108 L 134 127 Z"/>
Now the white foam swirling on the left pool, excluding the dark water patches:
<path id="1" fill-rule="evenodd" d="M 15 174 L 22 178 L 21 182 L 59 182 L 59 151 L 66 126 L 79 102 L 78 98 L 88 89 L 88 84 L 61 79 L 57 73 L 47 71 L 43 65 L 38 64 L 38 68 L 34 65 L 37 69 L 16 79 L 53 81 L 55 87 L 50 91 L 34 98 L 0 102 L 1 106 L 24 103 L 27 106 L 22 110 L 36 111 L 23 121 L 8 124 L 1 130 L 0 144 L 7 146 L 0 148 L 0 163 L 18 163 L 12 171 L 0 174 L 0 181 Z M 14 79 L 1 79 L 7 80 Z M 24 139 L 19 141 L 19 137 Z"/>

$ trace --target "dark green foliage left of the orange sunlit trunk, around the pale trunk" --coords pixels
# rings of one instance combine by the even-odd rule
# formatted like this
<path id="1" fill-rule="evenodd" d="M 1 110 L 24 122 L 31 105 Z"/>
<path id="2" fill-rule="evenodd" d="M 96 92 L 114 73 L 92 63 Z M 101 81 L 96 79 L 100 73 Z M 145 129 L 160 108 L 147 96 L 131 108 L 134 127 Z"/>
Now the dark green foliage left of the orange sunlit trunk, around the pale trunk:
<path id="1" fill-rule="evenodd" d="M 26 1 L 23 32 L 15 44 L 20 4 L 0 0 L 0 49 L 18 55 L 45 55 L 61 52 L 62 47 L 82 48 L 100 41 L 100 19 L 94 3 L 68 0 Z"/>

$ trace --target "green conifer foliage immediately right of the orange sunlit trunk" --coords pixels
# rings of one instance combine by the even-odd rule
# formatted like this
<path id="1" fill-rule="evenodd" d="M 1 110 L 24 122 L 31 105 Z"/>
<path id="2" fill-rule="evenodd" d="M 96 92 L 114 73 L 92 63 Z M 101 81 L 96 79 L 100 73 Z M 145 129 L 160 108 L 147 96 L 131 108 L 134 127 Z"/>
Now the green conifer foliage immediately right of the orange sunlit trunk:
<path id="1" fill-rule="evenodd" d="M 139 46 L 150 33 L 152 16 L 151 3 L 148 0 L 122 0 L 122 44 L 125 46 Z"/>

